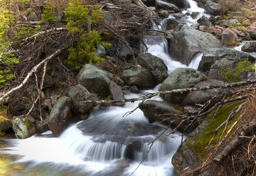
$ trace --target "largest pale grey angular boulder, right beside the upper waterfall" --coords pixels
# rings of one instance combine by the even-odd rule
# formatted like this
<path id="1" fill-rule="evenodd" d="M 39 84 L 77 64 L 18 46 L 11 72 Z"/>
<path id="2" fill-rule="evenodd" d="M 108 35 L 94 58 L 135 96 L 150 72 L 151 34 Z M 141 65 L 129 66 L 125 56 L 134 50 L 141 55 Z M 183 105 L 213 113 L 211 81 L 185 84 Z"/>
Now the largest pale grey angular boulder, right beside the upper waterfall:
<path id="1" fill-rule="evenodd" d="M 203 53 L 210 48 L 220 48 L 221 42 L 211 33 L 205 33 L 179 24 L 172 33 L 169 53 L 175 60 L 189 65 L 197 53 Z"/>

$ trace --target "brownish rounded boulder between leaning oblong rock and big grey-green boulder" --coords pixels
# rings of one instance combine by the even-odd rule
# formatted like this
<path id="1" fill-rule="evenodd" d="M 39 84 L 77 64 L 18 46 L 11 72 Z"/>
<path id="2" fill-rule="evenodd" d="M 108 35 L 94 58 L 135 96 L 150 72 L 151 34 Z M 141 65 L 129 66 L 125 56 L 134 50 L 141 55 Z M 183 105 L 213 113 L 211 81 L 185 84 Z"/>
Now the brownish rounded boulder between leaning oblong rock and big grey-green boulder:
<path id="1" fill-rule="evenodd" d="M 68 97 L 71 98 L 72 106 L 77 113 L 85 114 L 92 108 L 93 103 L 84 102 L 85 100 L 92 100 L 92 95 L 81 84 L 72 87 L 68 92 Z"/>

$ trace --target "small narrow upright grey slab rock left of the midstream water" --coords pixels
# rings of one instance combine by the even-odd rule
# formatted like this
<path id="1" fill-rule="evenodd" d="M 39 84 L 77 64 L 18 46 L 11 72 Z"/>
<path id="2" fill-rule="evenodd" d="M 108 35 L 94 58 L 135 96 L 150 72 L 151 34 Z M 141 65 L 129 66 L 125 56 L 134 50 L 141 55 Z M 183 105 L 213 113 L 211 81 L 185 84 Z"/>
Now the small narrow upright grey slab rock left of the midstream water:
<path id="1" fill-rule="evenodd" d="M 113 100 L 124 100 L 124 93 L 122 93 L 122 88 L 118 86 L 115 82 L 109 83 L 109 90 Z M 124 106 L 124 103 L 114 103 L 117 106 Z"/>

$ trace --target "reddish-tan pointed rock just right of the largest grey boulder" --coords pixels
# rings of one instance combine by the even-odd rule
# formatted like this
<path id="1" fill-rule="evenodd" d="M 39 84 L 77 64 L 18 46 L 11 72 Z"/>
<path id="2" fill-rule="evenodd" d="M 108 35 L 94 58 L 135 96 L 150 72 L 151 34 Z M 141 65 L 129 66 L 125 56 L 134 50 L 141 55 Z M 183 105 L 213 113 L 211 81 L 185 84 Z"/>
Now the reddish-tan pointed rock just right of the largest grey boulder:
<path id="1" fill-rule="evenodd" d="M 240 42 L 239 42 L 239 39 L 237 37 L 237 34 L 233 31 L 231 31 L 231 29 L 225 29 L 222 32 L 221 42 L 222 42 L 222 45 L 240 46 Z"/>

